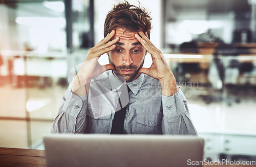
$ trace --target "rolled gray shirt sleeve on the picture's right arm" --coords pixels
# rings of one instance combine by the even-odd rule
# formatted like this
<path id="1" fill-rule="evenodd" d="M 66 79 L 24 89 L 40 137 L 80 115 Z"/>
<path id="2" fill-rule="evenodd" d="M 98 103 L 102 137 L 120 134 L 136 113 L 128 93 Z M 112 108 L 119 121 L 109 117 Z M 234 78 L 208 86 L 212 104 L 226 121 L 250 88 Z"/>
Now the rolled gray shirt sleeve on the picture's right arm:
<path id="1" fill-rule="evenodd" d="M 164 134 L 197 135 L 197 130 L 191 121 L 187 100 L 178 88 L 173 96 L 162 95 Z"/>

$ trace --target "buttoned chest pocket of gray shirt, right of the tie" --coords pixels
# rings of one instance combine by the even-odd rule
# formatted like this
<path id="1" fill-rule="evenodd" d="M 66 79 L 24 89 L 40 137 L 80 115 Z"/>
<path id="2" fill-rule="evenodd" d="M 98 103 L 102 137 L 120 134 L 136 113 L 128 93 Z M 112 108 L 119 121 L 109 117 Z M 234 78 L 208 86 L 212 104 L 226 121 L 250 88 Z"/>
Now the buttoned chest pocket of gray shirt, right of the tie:
<path id="1" fill-rule="evenodd" d="M 136 133 L 138 134 L 162 134 L 163 114 L 137 114 Z"/>

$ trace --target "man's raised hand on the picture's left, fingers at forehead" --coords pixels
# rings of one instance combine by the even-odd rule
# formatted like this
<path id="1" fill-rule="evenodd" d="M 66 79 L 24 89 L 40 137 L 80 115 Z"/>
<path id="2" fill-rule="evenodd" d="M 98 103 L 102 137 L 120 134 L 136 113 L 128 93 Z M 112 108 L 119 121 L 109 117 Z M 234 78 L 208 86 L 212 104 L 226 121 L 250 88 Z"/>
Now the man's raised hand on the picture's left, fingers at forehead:
<path id="1" fill-rule="evenodd" d="M 110 41 L 115 36 L 115 33 L 115 30 L 112 30 L 110 34 L 89 50 L 86 59 L 75 77 L 72 87 L 72 92 L 77 96 L 80 97 L 88 93 L 92 78 L 97 77 L 106 70 L 115 70 L 112 64 L 100 65 L 98 63 L 101 55 L 115 49 L 115 43 L 120 40 L 117 37 Z"/>

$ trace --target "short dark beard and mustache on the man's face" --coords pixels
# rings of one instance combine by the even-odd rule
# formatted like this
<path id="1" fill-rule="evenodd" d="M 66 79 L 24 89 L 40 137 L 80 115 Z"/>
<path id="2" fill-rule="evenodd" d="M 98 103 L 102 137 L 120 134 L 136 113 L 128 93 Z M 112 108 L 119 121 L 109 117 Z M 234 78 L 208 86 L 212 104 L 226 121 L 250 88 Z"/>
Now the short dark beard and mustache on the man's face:
<path id="1" fill-rule="evenodd" d="M 138 74 L 138 71 L 139 69 L 143 66 L 144 64 L 144 59 L 143 61 L 141 62 L 141 64 L 139 66 L 136 66 L 136 65 L 119 65 L 119 66 L 116 66 L 110 59 L 109 59 L 109 62 L 110 64 L 114 65 L 115 67 L 115 70 L 114 71 L 114 74 L 116 75 L 116 77 L 122 81 L 122 82 L 132 82 L 133 80 L 135 80 L 135 77 L 137 76 Z M 121 73 L 121 70 L 133 70 L 133 73 L 131 74 L 122 74 Z"/>

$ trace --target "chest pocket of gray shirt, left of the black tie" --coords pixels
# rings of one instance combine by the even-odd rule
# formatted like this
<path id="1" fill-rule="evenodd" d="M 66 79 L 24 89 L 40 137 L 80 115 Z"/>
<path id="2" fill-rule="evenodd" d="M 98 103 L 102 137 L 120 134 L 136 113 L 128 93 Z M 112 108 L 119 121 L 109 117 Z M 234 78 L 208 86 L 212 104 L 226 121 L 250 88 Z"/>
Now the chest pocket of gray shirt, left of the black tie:
<path id="1" fill-rule="evenodd" d="M 86 133 L 110 133 L 111 113 L 108 105 L 88 105 Z"/>

